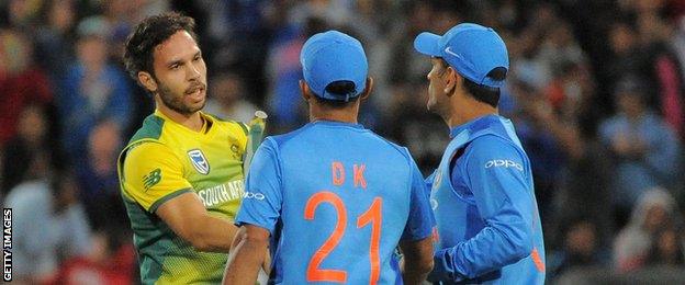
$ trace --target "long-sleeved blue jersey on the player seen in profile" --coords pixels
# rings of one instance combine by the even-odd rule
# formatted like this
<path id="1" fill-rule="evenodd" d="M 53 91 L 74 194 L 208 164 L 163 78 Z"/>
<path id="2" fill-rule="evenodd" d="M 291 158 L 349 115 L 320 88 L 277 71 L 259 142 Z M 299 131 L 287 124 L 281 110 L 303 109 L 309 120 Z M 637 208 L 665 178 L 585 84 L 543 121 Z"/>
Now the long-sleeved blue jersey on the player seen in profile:
<path id="1" fill-rule="evenodd" d="M 431 184 L 441 284 L 543 284 L 544 244 L 530 162 L 510 121 L 486 115 L 451 129 Z"/>

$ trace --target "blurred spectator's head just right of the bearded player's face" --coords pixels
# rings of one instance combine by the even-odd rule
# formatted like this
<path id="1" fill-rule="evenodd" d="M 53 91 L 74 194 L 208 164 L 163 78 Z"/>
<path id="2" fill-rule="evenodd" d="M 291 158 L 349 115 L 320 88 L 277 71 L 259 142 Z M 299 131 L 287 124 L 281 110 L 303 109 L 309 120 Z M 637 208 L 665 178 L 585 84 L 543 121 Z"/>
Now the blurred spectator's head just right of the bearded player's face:
<path id="1" fill-rule="evenodd" d="M 257 107 L 245 100 L 243 79 L 233 72 L 220 73 L 210 79 L 210 99 L 204 112 L 223 119 L 248 123 Z"/>

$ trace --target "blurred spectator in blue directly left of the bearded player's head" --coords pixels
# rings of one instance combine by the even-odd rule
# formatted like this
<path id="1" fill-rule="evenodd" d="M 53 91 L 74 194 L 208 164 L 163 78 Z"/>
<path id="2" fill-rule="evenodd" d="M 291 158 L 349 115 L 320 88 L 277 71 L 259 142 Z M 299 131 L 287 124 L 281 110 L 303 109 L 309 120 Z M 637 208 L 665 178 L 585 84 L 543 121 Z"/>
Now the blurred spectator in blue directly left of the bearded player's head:
<path id="1" fill-rule="evenodd" d="M 89 18 L 78 26 L 78 61 L 63 82 L 58 107 L 65 128 L 65 149 L 72 158 L 86 153 L 90 130 L 112 121 L 120 129 L 131 116 L 131 90 L 125 75 L 108 62 L 109 25 L 100 18 Z"/>

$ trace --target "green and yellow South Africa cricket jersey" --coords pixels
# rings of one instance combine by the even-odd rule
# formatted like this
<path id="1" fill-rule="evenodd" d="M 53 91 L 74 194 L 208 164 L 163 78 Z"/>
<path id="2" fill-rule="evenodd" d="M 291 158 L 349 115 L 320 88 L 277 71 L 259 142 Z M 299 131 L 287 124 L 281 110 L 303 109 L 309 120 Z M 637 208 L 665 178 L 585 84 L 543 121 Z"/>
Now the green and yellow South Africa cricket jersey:
<path id="1" fill-rule="evenodd" d="M 227 254 L 200 252 L 155 210 L 195 192 L 212 215 L 233 220 L 243 197 L 247 127 L 201 113 L 193 132 L 155 111 L 119 158 L 122 196 L 141 263 L 143 284 L 220 283 Z"/>

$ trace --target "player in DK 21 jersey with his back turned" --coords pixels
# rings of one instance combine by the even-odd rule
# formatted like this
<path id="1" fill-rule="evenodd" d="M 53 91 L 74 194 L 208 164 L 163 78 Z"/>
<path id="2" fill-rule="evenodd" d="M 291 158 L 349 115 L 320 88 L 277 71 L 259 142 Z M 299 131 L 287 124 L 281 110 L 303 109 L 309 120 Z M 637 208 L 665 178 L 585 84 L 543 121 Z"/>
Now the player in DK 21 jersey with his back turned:
<path id="1" fill-rule="evenodd" d="M 406 148 L 357 123 L 373 87 L 361 43 L 316 34 L 300 60 L 311 122 L 255 153 L 224 284 L 255 284 L 269 242 L 274 284 L 419 284 L 433 263 L 427 190 Z"/>

